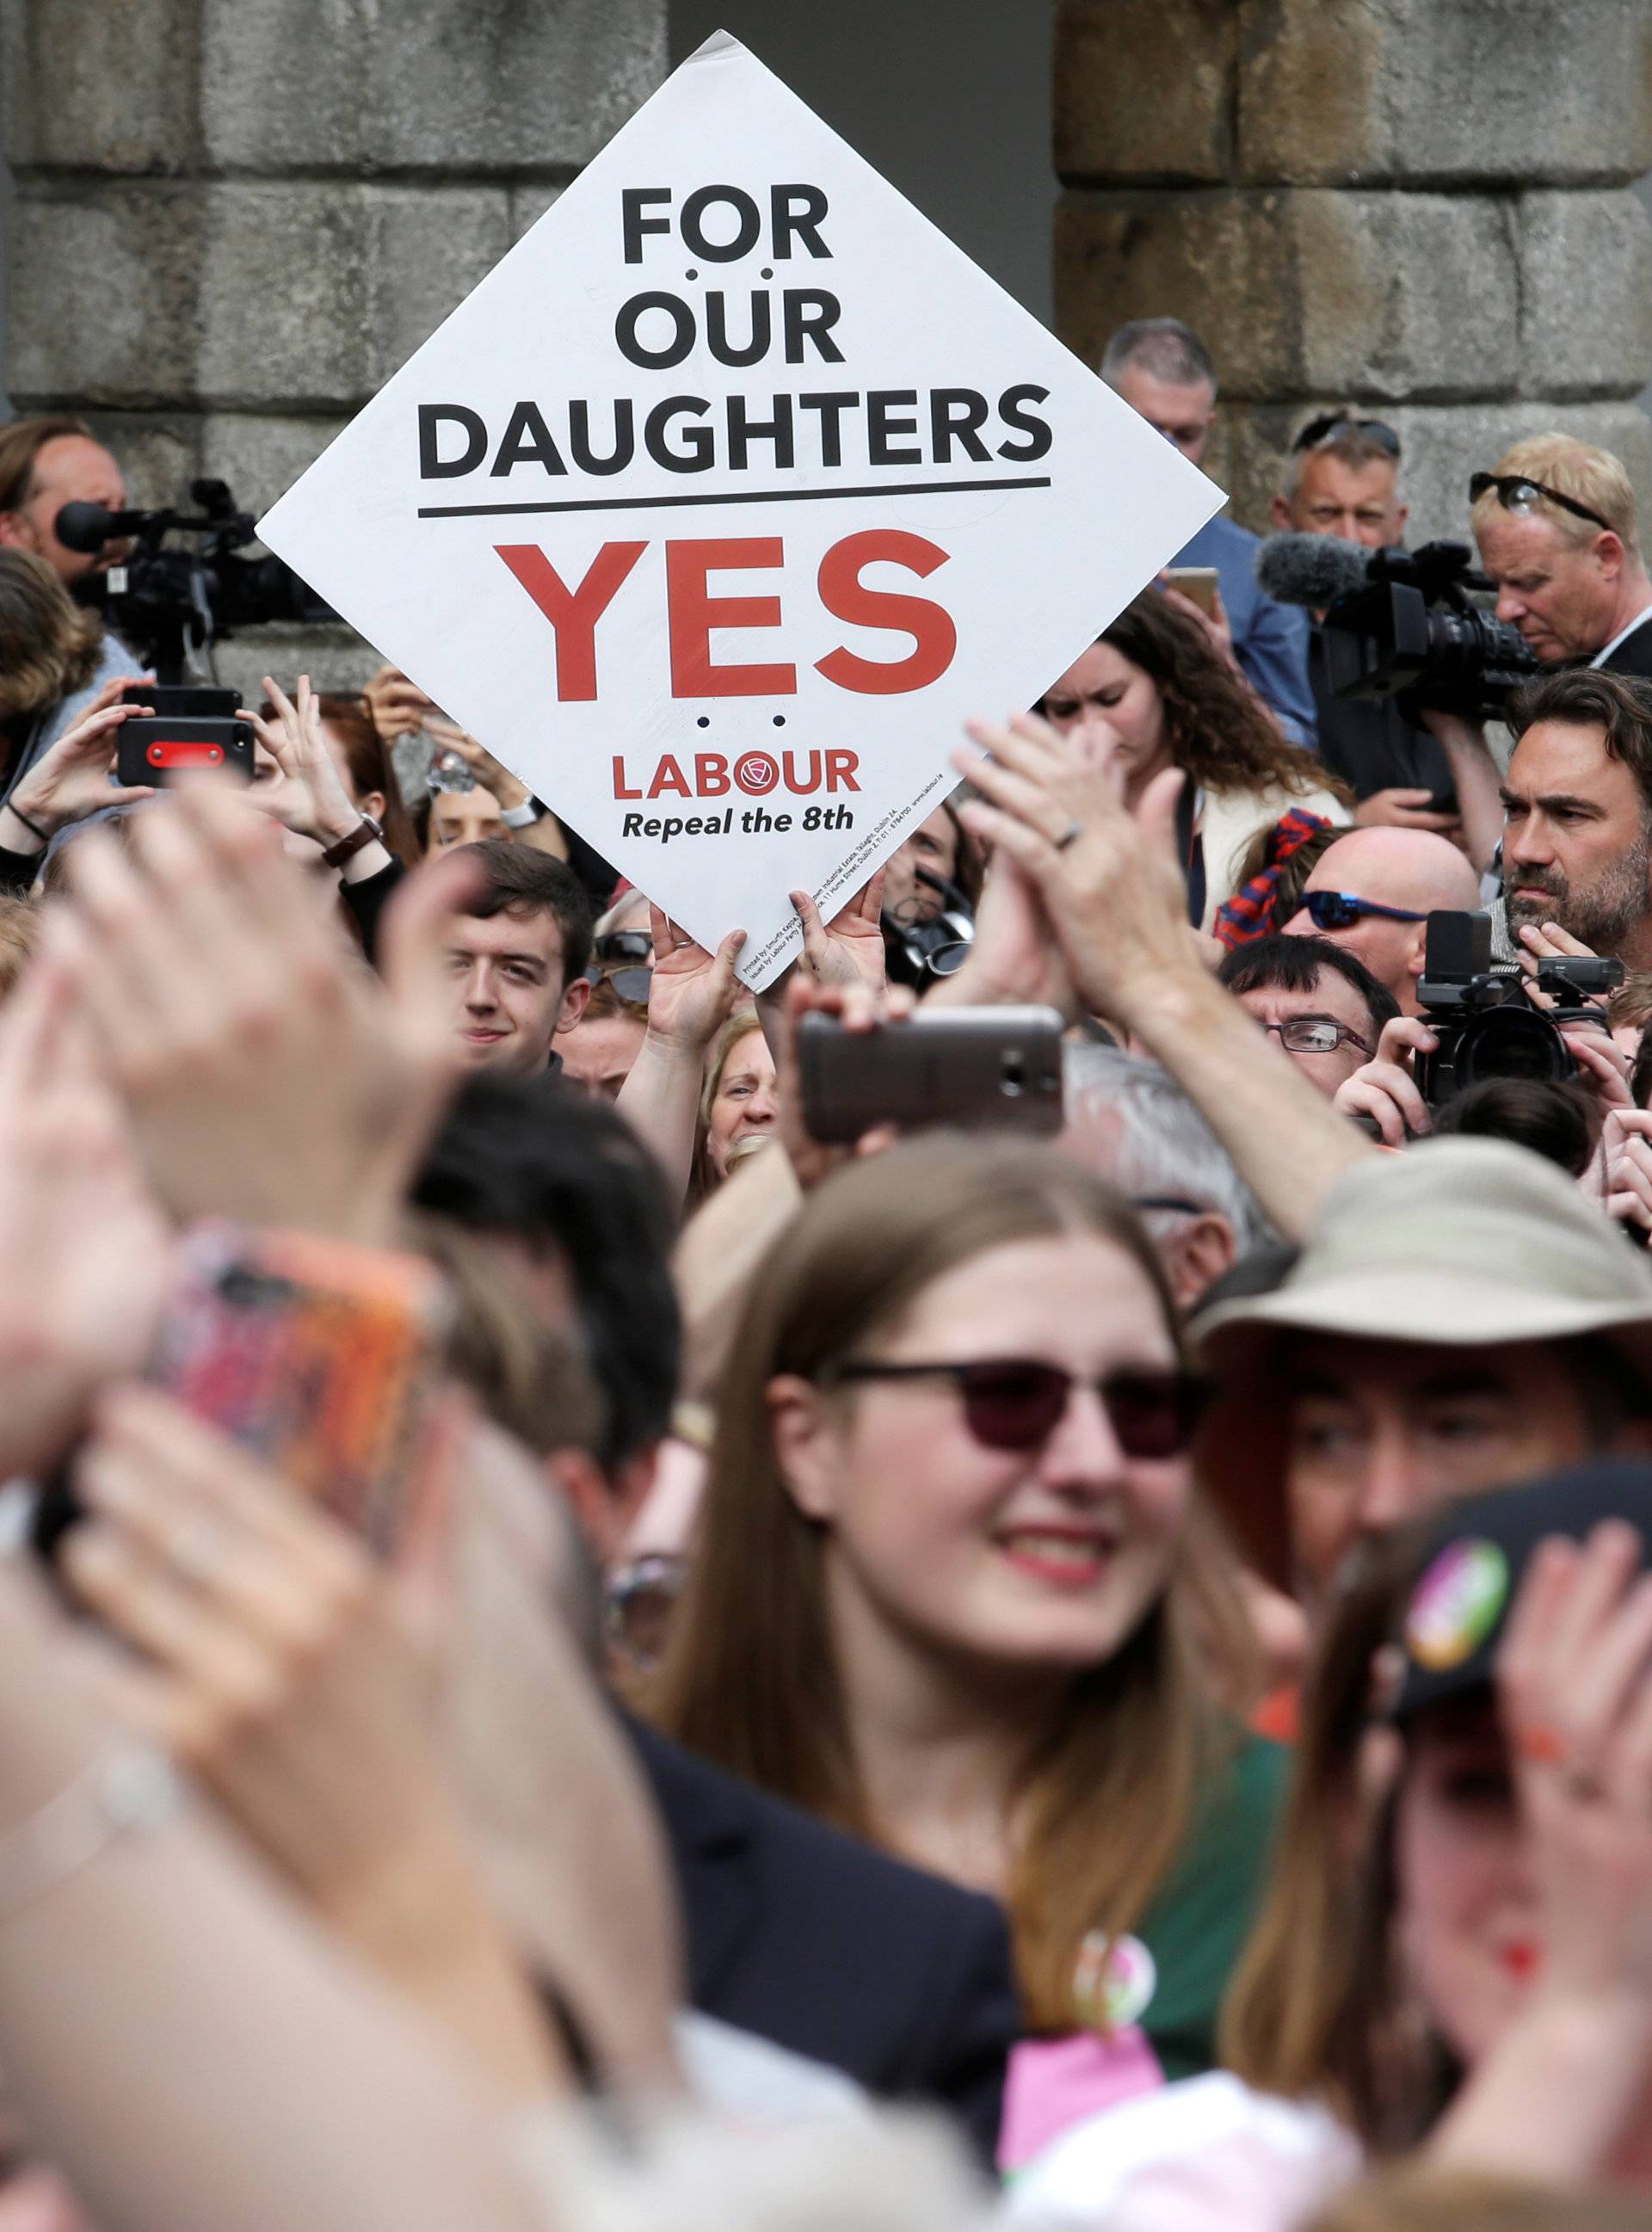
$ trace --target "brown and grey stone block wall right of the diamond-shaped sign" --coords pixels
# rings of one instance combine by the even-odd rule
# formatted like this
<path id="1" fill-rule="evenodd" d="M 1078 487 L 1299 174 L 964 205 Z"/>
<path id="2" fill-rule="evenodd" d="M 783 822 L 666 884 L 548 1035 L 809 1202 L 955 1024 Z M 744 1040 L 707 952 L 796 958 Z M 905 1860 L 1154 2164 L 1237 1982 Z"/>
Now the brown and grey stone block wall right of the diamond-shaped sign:
<path id="1" fill-rule="evenodd" d="M 1523 433 L 1614 449 L 1652 511 L 1643 0 L 1060 0 L 1056 317 L 1092 364 L 1181 317 L 1210 471 L 1264 527 L 1290 433 L 1404 444 L 1413 536 Z"/>

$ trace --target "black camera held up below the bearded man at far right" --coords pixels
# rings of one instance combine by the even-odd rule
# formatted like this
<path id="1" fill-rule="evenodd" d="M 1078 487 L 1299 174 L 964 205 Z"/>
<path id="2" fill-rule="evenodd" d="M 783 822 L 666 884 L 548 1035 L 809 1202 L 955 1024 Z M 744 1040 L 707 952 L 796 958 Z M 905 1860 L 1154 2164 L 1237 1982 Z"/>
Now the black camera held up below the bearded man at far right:
<path id="1" fill-rule="evenodd" d="M 1418 1054 L 1418 1091 L 1429 1107 L 1440 1107 L 1487 1078 L 1567 1085 L 1578 1065 L 1560 1036 L 1560 1022 L 1581 1013 L 1598 1020 L 1598 1009 L 1578 1002 L 1614 991 L 1621 982 L 1623 962 L 1594 953 L 1545 960 L 1538 991 L 1558 1004 L 1554 1011 L 1536 1009 L 1518 975 L 1491 969 L 1491 915 L 1438 908 L 1429 915 L 1418 998 L 1440 1045 L 1433 1054 Z"/>

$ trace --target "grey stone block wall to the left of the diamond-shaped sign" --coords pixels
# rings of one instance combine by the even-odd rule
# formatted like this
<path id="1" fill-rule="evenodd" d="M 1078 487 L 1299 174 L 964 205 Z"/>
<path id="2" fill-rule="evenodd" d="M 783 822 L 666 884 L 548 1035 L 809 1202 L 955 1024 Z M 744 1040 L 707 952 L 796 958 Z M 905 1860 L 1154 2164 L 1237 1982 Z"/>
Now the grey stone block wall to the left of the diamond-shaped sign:
<path id="1" fill-rule="evenodd" d="M 7 388 L 270 504 L 667 69 L 665 0 L 0 0 Z M 342 629 L 223 647 L 350 687 Z"/>

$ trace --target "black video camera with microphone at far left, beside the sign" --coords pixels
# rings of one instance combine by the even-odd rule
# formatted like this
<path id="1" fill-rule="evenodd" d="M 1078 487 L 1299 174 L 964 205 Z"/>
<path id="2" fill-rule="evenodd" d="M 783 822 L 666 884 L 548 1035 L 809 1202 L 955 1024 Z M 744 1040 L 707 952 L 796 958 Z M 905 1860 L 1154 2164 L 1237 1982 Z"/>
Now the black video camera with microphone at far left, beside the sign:
<path id="1" fill-rule="evenodd" d="M 65 504 L 54 522 L 65 549 L 94 556 L 107 542 L 129 540 L 129 554 L 103 580 L 103 612 L 163 683 L 188 681 L 194 654 L 239 627 L 337 620 L 292 567 L 279 558 L 241 558 L 257 540 L 250 511 L 237 511 L 223 480 L 192 480 L 188 511 L 109 511 L 103 504 Z M 167 536 L 192 536 L 194 547 L 165 549 Z"/>

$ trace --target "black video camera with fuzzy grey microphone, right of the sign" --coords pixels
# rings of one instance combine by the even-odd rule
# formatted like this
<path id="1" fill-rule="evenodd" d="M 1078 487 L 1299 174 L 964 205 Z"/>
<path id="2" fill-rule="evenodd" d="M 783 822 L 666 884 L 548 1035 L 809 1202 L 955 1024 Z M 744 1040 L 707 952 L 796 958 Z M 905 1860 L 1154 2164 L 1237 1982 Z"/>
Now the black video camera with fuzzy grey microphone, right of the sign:
<path id="1" fill-rule="evenodd" d="M 1467 542 L 1364 551 L 1337 536 L 1272 536 L 1257 580 L 1286 605 L 1324 612 L 1326 679 L 1339 699 L 1398 699 L 1406 721 L 1498 716 L 1540 672 L 1518 629 L 1473 603 L 1491 583 Z"/>

